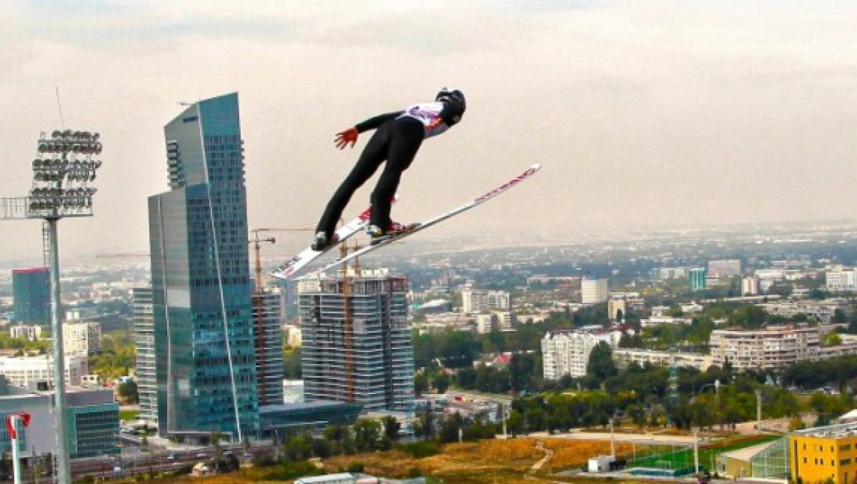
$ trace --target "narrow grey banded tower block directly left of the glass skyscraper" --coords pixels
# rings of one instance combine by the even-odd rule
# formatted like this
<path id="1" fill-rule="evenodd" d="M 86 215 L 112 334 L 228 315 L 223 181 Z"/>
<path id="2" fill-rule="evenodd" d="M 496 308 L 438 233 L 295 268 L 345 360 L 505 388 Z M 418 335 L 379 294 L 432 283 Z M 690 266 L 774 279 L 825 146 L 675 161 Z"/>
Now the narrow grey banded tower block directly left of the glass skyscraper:
<path id="1" fill-rule="evenodd" d="M 140 396 L 140 418 L 158 424 L 158 379 L 155 357 L 155 321 L 152 315 L 152 288 L 131 290 L 134 299 L 134 340 L 137 344 L 137 394 Z"/>

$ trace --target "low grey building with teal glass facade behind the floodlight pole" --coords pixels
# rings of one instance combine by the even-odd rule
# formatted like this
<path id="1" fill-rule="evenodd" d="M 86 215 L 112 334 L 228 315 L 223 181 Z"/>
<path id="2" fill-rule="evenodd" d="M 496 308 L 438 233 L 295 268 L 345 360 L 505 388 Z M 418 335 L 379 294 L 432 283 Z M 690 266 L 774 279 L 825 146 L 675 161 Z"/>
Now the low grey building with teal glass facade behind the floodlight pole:
<path id="1" fill-rule="evenodd" d="M 52 405 L 53 391 L 0 385 L 0 418 L 27 411 L 30 425 L 19 429 L 21 455 L 40 456 L 57 450 L 56 418 Z M 119 447 L 119 405 L 110 389 L 66 387 L 65 402 L 68 428 L 62 434 L 68 439 L 72 458 L 117 455 Z M 0 453 L 11 448 L 6 426 L 0 430 Z"/>

